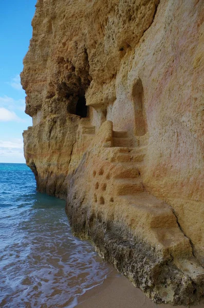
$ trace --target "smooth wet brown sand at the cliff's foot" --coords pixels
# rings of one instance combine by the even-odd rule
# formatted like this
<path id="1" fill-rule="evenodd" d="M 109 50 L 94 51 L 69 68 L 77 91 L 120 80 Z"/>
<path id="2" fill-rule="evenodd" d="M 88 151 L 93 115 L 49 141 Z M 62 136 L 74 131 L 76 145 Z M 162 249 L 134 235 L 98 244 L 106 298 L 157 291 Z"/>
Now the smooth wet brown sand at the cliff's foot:
<path id="1" fill-rule="evenodd" d="M 186 308 L 155 304 L 127 278 L 120 275 L 108 277 L 103 284 L 87 291 L 78 301 L 77 308 Z M 204 300 L 192 307 L 204 308 Z"/>

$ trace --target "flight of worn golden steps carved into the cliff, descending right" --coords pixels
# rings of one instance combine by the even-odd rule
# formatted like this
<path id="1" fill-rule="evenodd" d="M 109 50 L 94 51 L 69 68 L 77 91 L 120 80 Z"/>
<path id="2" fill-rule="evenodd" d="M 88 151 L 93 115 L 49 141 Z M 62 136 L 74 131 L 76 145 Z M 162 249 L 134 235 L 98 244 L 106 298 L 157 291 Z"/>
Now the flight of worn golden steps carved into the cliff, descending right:
<path id="1" fill-rule="evenodd" d="M 110 162 L 115 165 L 114 187 L 119 203 L 125 204 L 137 221 L 148 224 L 154 242 L 182 254 L 183 247 L 188 246 L 188 239 L 180 232 L 172 208 L 145 191 L 143 186 L 140 171 L 144 167 L 145 142 L 137 147 L 132 147 L 133 144 L 127 132 L 113 131 L 112 149 L 115 152 Z"/>

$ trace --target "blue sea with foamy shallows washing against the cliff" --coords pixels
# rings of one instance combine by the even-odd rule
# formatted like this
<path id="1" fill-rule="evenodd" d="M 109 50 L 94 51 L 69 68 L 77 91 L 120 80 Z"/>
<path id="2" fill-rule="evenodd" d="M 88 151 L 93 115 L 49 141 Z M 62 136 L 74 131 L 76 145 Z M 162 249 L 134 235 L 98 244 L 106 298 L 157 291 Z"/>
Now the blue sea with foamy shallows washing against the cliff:
<path id="1" fill-rule="evenodd" d="M 71 234 L 65 201 L 35 191 L 25 164 L 0 164 L 0 307 L 75 307 L 113 271 Z"/>

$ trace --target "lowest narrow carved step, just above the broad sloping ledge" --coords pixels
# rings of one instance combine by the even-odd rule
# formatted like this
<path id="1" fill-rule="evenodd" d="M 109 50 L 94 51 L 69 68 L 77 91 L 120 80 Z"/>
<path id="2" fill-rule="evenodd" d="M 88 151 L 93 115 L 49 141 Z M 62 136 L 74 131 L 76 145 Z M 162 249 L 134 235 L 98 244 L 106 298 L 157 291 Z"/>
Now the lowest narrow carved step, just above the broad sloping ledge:
<path id="1" fill-rule="evenodd" d="M 141 178 L 117 179 L 115 180 L 115 185 L 118 196 L 134 195 L 144 190 Z"/>

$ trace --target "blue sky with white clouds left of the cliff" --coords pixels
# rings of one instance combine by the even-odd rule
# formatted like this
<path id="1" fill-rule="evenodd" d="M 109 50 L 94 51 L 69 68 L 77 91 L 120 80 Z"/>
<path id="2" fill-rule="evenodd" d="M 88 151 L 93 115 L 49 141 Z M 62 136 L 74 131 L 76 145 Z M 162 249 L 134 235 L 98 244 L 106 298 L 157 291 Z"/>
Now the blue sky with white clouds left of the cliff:
<path id="1" fill-rule="evenodd" d="M 22 132 L 32 125 L 24 113 L 19 74 L 32 37 L 36 0 L 0 1 L 0 163 L 24 163 Z"/>

